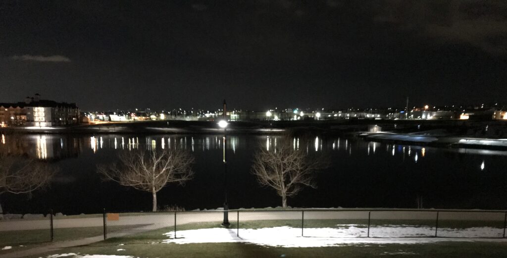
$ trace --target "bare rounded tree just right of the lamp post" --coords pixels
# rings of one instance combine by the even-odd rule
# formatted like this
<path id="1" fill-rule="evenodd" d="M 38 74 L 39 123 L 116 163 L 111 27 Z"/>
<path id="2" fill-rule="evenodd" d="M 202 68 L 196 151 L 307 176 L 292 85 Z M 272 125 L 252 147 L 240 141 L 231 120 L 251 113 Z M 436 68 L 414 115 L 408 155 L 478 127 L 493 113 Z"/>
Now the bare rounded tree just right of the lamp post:
<path id="1" fill-rule="evenodd" d="M 305 150 L 293 146 L 285 136 L 271 149 L 259 148 L 253 158 L 251 173 L 262 186 L 276 190 L 287 207 L 287 197 L 297 195 L 303 188 L 316 188 L 315 173 L 328 166 L 325 159 L 312 158 Z"/>

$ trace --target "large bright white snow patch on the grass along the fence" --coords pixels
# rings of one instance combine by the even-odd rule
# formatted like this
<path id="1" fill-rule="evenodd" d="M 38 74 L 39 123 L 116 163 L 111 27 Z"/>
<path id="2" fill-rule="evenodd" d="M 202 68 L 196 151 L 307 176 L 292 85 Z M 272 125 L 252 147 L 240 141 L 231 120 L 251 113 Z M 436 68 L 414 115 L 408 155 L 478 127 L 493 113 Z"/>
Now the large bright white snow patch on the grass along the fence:
<path id="1" fill-rule="evenodd" d="M 417 244 L 442 241 L 506 241 L 507 239 L 478 239 L 479 237 L 501 237 L 503 229 L 477 227 L 469 229 L 439 229 L 439 236 L 445 238 L 428 238 L 434 236 L 431 227 L 372 227 L 370 238 L 367 228 L 307 228 L 304 237 L 301 228 L 275 227 L 263 229 L 240 229 L 239 237 L 236 229 L 212 228 L 184 230 L 165 233 L 169 239 L 163 243 L 228 243 L 240 242 L 263 246 L 279 247 L 323 247 L 349 244 Z"/>

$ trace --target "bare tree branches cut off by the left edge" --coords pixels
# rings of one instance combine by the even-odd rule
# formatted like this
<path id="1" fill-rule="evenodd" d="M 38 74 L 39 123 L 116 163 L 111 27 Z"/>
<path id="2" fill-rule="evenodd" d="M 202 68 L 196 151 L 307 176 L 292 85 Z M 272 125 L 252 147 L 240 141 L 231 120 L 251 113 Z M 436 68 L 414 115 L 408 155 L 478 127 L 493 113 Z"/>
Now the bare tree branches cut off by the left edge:
<path id="1" fill-rule="evenodd" d="M 28 194 L 44 188 L 57 169 L 47 162 L 0 155 L 0 195 Z M 0 203 L 0 215 L 3 213 Z"/>

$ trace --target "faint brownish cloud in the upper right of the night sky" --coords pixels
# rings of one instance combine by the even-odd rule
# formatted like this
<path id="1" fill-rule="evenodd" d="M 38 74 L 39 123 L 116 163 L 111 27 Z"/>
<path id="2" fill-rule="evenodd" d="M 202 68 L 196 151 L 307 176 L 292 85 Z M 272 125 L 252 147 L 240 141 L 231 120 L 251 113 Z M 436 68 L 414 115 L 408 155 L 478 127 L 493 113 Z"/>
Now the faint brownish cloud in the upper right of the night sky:
<path id="1" fill-rule="evenodd" d="M 505 1 L 384 1 L 379 23 L 420 33 L 443 44 L 465 43 L 488 53 L 507 54 Z"/>

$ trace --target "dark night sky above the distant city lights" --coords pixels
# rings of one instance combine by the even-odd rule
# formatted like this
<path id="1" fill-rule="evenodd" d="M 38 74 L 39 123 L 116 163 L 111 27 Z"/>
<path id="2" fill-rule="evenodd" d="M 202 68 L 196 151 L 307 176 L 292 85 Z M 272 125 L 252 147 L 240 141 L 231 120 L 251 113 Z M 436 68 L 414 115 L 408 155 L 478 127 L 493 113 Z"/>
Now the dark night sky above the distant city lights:
<path id="1" fill-rule="evenodd" d="M 0 0 L 0 102 L 505 103 L 507 1 Z"/>

